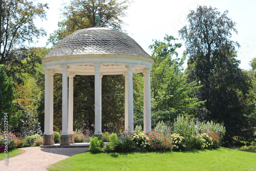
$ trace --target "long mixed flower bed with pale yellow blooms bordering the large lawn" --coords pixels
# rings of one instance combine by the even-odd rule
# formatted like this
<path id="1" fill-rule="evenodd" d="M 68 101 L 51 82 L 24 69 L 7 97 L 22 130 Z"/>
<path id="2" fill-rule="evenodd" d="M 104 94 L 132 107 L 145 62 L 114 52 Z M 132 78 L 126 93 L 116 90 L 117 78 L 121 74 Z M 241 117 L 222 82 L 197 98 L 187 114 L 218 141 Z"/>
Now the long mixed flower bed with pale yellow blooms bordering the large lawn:
<path id="1" fill-rule="evenodd" d="M 138 126 L 139 128 L 140 126 Z M 150 152 L 150 151 L 185 151 L 189 149 L 218 148 L 225 134 L 225 127 L 214 122 L 198 123 L 188 120 L 187 117 L 178 116 L 176 121 L 167 125 L 159 122 L 149 134 L 141 129 L 135 129 L 132 134 L 122 133 L 103 134 L 103 139 L 109 143 L 103 145 L 99 138 L 92 138 L 90 149 L 99 152 Z M 108 137 L 111 137 L 108 139 Z M 96 145 L 96 146 L 95 146 Z"/>

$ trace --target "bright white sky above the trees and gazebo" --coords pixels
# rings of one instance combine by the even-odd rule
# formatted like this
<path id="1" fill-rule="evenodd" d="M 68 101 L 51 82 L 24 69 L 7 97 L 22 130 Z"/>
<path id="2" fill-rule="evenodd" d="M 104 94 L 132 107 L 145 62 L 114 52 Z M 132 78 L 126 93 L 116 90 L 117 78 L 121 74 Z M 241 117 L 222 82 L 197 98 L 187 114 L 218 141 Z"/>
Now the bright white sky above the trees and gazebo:
<path id="1" fill-rule="evenodd" d="M 35 0 L 36 3 L 48 3 L 47 20 L 35 20 L 37 27 L 46 30 L 47 36 L 40 37 L 35 47 L 44 47 L 49 34 L 58 29 L 62 8 L 69 5 L 70 0 Z M 64 5 L 63 5 L 64 4 Z M 250 69 L 250 61 L 256 57 L 256 1 L 255 0 L 134 0 L 127 16 L 122 18 L 126 33 L 132 37 L 148 54 L 152 54 L 148 46 L 153 40 L 162 41 L 165 34 L 178 38 L 182 43 L 178 50 L 179 56 L 185 50 L 184 41 L 180 40 L 178 31 L 188 23 L 186 16 L 190 10 L 196 10 L 198 5 L 211 6 L 223 13 L 228 10 L 227 16 L 237 23 L 238 34 L 232 34 L 232 40 L 238 41 L 240 48 L 237 59 L 241 61 L 240 68 Z M 184 66 L 186 67 L 186 66 Z"/>

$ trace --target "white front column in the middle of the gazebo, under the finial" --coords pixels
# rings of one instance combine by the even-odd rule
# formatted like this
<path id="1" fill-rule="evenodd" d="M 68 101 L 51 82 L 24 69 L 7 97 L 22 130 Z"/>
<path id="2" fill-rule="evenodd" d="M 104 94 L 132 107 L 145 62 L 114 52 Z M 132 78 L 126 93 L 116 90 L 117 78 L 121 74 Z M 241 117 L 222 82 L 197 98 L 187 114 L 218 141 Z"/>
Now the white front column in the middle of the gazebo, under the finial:
<path id="1" fill-rule="evenodd" d="M 101 84 L 100 84 L 100 64 L 94 64 L 95 68 L 95 132 L 94 135 L 101 134 Z"/>

